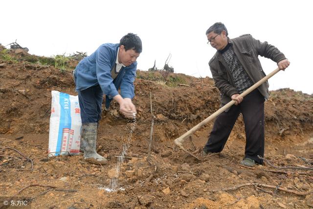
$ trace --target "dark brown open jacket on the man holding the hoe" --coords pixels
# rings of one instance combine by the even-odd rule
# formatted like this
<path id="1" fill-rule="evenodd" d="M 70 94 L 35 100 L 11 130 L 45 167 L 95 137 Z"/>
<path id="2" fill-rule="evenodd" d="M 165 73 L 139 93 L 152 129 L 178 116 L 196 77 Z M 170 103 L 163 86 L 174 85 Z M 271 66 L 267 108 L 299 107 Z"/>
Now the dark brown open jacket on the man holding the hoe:
<path id="1" fill-rule="evenodd" d="M 286 59 L 285 55 L 275 46 L 268 44 L 268 42 L 260 42 L 249 34 L 234 39 L 228 38 L 228 42 L 232 45 L 235 54 L 253 84 L 266 76 L 258 58 L 259 55 L 269 58 L 276 63 Z M 215 81 L 215 86 L 221 92 L 221 105 L 224 106 L 231 100 L 231 95 L 238 93 L 238 91 L 232 81 L 228 66 L 219 51 L 212 57 L 209 66 Z M 268 99 L 268 82 L 259 86 L 258 90 Z"/>

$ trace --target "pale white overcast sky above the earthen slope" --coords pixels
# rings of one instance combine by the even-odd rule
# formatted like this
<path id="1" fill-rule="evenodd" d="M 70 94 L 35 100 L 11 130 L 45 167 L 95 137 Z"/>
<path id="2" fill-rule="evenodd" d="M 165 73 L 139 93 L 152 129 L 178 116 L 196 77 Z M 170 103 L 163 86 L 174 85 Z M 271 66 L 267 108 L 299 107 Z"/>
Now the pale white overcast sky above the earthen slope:
<path id="1" fill-rule="evenodd" d="M 29 53 L 52 56 L 76 51 L 90 55 L 103 43 L 138 34 L 139 70 L 169 65 L 175 72 L 210 76 L 206 29 L 222 22 L 229 37 L 249 33 L 276 46 L 291 65 L 269 80 L 270 90 L 313 93 L 311 65 L 313 3 L 310 0 L 1 0 L 0 43 L 17 39 Z M 260 58 L 266 73 L 276 63 Z"/>

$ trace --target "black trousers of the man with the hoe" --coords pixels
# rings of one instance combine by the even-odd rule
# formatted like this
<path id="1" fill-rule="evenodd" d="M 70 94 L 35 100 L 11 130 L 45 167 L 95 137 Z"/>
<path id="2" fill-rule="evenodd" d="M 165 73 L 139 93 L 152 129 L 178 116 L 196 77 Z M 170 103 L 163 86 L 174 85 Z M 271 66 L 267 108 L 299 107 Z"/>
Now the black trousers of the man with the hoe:
<path id="1" fill-rule="evenodd" d="M 257 156 L 264 156 L 264 96 L 254 90 L 239 105 L 233 105 L 220 114 L 213 125 L 205 152 L 221 152 L 240 113 L 243 114 L 246 131 L 245 158 L 263 163 Z"/>

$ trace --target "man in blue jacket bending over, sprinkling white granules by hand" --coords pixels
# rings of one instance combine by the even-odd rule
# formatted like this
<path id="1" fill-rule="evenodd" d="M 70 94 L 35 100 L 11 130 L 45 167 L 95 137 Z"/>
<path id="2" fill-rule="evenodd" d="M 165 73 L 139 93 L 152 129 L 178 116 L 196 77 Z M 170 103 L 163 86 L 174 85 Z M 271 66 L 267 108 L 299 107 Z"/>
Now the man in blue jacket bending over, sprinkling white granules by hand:
<path id="1" fill-rule="evenodd" d="M 96 152 L 97 126 L 101 118 L 103 94 L 106 109 L 112 99 L 119 104 L 119 111 L 134 118 L 136 108 L 134 79 L 136 59 L 142 51 L 140 38 L 128 33 L 119 44 L 103 44 L 90 56 L 78 63 L 74 70 L 74 81 L 81 108 L 81 150 L 90 163 L 105 164 L 107 159 Z M 121 94 L 118 89 L 121 89 Z"/>

